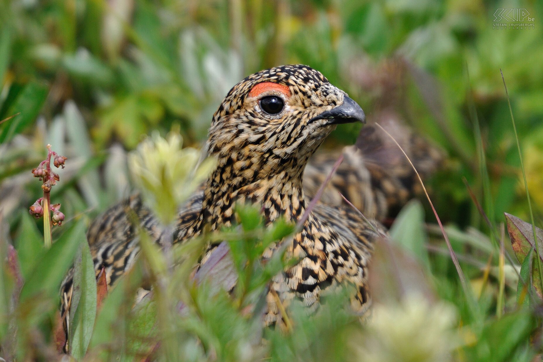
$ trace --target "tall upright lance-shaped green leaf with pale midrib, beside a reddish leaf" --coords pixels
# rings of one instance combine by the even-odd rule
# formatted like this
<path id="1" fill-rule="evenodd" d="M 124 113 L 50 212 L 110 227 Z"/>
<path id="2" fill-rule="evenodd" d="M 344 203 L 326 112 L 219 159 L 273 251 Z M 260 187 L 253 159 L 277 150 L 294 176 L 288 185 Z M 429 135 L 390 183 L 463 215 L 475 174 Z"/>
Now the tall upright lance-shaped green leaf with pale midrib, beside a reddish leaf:
<path id="1" fill-rule="evenodd" d="M 91 250 L 87 242 L 82 242 L 75 260 L 73 276 L 72 304 L 70 307 L 70 346 L 75 359 L 85 356 L 91 341 L 94 319 L 96 319 L 96 273 Z"/>

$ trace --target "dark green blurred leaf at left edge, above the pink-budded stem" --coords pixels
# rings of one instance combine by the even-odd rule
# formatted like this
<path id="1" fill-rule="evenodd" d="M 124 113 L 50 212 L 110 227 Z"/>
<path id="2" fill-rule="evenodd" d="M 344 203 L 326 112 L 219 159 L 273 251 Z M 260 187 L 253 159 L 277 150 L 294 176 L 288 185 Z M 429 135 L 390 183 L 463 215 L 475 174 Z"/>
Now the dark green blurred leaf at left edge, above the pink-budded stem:
<path id="1" fill-rule="evenodd" d="M 8 105 L 5 117 L 20 113 L 4 122 L 0 128 L 0 143 L 7 142 L 32 124 L 47 97 L 48 87 L 41 83 L 30 82 L 21 89 L 13 103 Z"/>

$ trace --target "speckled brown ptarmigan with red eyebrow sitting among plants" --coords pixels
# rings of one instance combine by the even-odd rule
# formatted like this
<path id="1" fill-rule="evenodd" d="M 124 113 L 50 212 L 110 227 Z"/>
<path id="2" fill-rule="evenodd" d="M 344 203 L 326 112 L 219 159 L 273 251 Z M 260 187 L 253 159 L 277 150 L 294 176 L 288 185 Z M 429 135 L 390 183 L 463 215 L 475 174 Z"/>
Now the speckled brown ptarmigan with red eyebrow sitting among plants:
<path id="1" fill-rule="evenodd" d="M 308 160 L 338 123 L 364 121 L 364 112 L 355 101 L 308 66 L 286 65 L 243 79 L 213 116 L 207 152 L 217 158 L 217 167 L 202 191 L 180 209 L 174 242 L 198 235 L 206 225 L 211 230 L 229 226 L 238 201 L 263 205 L 267 222 L 282 215 L 298 222 L 337 155 L 318 156 L 306 167 Z M 344 149 L 345 160 L 321 202 L 294 235 L 290 252 L 300 261 L 270 283 L 273 293 L 268 295 L 266 324 L 279 318 L 275 294 L 287 304 L 300 298 L 308 307 L 317 308 L 327 288 L 351 284 L 357 291 L 351 303 L 355 310 L 362 313 L 368 308 L 367 265 L 372 243 L 383 228 L 377 221 L 370 226 L 358 211 L 343 203 L 338 191 L 370 219 L 379 220 L 389 207 L 411 195 L 414 176 L 409 167 L 387 170 L 382 167 L 386 161 L 368 160 L 364 149 L 382 146 L 376 133 L 377 129 L 367 128 L 357 145 Z M 425 170 L 431 170 L 435 157 L 430 148 L 412 135 L 408 142 L 420 143 L 414 157 L 418 164 L 429 165 Z M 160 240 L 159 224 L 137 196 L 98 217 L 87 239 L 95 269 L 98 273 L 105 267 L 108 285 L 130 268 L 139 251 L 138 226 L 132 224 L 129 214 L 137 215 L 140 226 Z M 68 274 L 61 289 L 63 311 L 71 287 Z"/>

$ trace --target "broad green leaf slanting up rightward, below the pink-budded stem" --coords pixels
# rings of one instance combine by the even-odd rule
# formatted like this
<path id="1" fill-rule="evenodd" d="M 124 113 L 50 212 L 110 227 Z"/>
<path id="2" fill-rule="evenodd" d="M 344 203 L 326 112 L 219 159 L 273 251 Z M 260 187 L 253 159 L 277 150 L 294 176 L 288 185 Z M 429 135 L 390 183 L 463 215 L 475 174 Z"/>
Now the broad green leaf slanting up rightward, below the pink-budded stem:
<path id="1" fill-rule="evenodd" d="M 36 263 L 21 290 L 21 301 L 39 295 L 58 296 L 60 283 L 73 263 L 79 244 L 85 240 L 85 225 L 79 221 L 67 230 Z"/>

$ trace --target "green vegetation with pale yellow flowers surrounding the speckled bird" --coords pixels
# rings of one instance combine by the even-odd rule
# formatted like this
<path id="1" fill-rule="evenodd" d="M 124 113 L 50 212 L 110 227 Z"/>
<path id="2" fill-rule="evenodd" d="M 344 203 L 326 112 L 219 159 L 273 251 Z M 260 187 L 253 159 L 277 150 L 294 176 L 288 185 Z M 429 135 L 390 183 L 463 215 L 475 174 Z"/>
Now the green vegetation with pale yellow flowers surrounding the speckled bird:
<path id="1" fill-rule="evenodd" d="M 75 359 L 533 360 L 543 298 L 535 228 L 543 225 L 543 5 L 514 5 L 533 27 L 493 28 L 495 11 L 508 6 L 0 0 L 0 357 L 58 358 L 58 288 L 75 261 Z M 408 124 L 444 149 L 443 170 L 426 186 L 462 273 L 430 205 L 414 201 L 375 251 L 370 321 L 338 307 L 348 304 L 339 293 L 315 315 L 294 306 L 285 328 L 263 328 L 266 283 L 292 261 L 279 254 L 264 265 L 259 255 L 294 226 L 264 228 L 258 210 L 240 205 L 241 227 L 168 252 L 142 238 L 134 270 L 105 291 L 84 242 L 90 220 L 138 189 L 171 222 L 172 201 L 212 167 L 207 160 L 188 172 L 198 157 L 181 144 L 201 147 L 238 80 L 292 63 L 323 72 L 370 121 Z M 340 126 L 325 147 L 352 144 L 358 127 Z M 62 213 L 50 210 L 62 226 L 50 231 L 47 215 L 44 223 L 29 214 L 44 196 L 31 171 L 50 157 L 47 144 L 53 162 L 67 157 L 47 195 L 62 204 Z M 170 173 L 149 178 L 152 167 Z M 33 207 L 35 216 L 49 211 Z M 210 238 L 230 246 L 231 263 L 191 276 Z M 133 309 L 144 269 L 153 297 Z M 222 286 L 235 277 L 241 286 L 228 295 Z"/>

